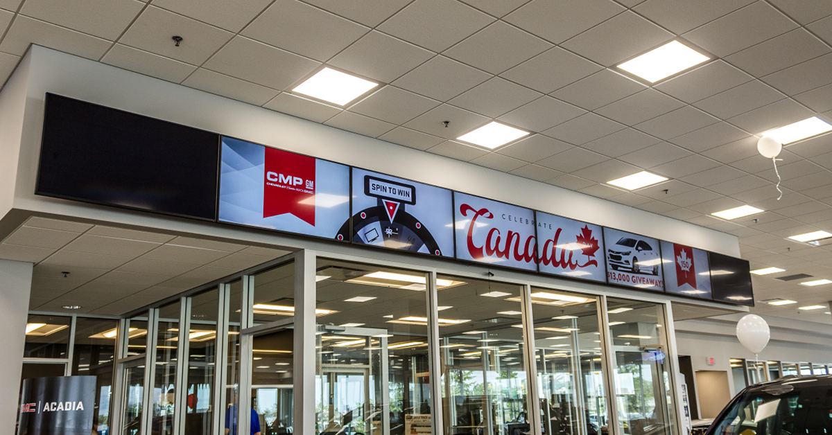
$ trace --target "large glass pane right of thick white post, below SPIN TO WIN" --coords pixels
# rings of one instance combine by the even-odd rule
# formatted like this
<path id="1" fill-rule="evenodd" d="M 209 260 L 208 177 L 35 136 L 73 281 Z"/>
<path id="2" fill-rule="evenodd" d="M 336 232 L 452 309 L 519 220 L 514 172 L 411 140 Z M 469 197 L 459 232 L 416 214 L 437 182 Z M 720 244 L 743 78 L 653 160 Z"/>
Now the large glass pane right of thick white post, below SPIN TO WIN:
<path id="1" fill-rule="evenodd" d="M 427 274 L 319 259 L 317 275 L 316 432 L 430 432 Z"/>

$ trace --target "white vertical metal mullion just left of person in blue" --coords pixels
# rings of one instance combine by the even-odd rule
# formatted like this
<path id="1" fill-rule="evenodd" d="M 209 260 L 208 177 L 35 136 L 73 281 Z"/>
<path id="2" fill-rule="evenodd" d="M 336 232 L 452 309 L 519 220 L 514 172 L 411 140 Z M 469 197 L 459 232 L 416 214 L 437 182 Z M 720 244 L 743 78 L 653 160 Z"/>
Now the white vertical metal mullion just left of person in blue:
<path id="1" fill-rule="evenodd" d="M 230 284 L 220 284 L 217 294 L 216 344 L 214 347 L 214 397 L 210 433 L 222 433 L 225 425 L 225 383 L 228 378 L 228 316 Z"/>

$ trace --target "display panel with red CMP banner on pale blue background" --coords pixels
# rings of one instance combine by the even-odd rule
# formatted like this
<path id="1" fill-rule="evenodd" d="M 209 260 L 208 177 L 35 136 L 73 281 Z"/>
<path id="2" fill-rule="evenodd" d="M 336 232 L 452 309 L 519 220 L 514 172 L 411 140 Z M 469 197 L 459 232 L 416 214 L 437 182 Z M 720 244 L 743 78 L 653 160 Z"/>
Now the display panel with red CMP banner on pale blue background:
<path id="1" fill-rule="evenodd" d="M 219 220 L 349 240 L 349 166 L 224 136 Z"/>

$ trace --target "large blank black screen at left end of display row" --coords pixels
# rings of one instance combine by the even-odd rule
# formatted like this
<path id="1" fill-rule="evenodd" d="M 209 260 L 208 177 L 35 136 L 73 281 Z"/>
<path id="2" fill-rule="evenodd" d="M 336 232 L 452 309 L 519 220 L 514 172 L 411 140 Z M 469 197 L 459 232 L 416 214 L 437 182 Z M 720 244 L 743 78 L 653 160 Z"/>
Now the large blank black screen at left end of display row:
<path id="1" fill-rule="evenodd" d="M 216 217 L 220 136 L 47 94 L 37 195 Z"/>

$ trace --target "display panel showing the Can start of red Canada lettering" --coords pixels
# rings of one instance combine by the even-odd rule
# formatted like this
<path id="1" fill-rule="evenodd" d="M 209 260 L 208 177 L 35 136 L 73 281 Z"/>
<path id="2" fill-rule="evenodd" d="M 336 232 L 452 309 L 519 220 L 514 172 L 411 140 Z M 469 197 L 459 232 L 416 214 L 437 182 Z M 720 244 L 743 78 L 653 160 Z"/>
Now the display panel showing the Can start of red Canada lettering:
<path id="1" fill-rule="evenodd" d="M 534 211 L 453 192 L 457 258 L 537 270 Z"/>

